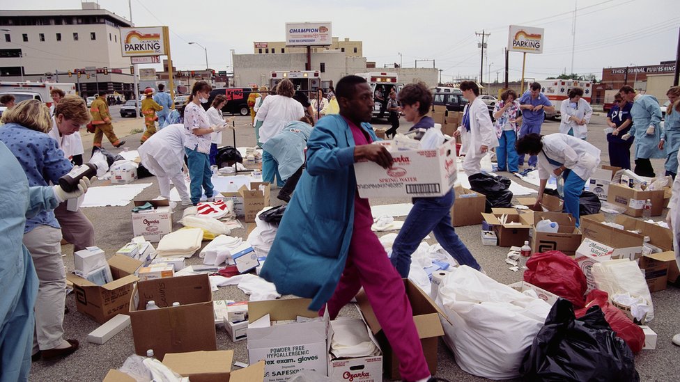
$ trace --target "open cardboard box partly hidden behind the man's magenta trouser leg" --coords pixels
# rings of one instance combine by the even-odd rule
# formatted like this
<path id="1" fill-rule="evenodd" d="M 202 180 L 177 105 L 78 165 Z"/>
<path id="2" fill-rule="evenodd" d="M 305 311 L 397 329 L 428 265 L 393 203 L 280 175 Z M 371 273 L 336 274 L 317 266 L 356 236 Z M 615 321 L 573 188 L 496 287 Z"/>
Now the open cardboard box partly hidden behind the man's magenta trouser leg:
<path id="1" fill-rule="evenodd" d="M 444 335 L 444 329 L 439 321 L 439 315 L 446 317 L 444 312 L 435 304 L 430 296 L 426 295 L 422 289 L 417 287 L 413 282 L 404 279 L 404 286 L 406 289 L 406 296 L 411 304 L 413 311 L 413 321 L 422 343 L 425 359 L 427 360 L 428 368 L 431 374 L 437 372 L 437 345 L 438 337 Z M 387 379 L 401 379 L 399 374 L 399 360 L 396 354 L 389 346 L 383 328 L 378 322 L 376 313 L 373 312 L 371 303 L 369 303 L 366 293 L 362 290 L 357 294 L 357 305 L 364 317 L 364 321 L 369 325 L 371 333 L 376 336 L 380 349 L 383 350 L 383 369 L 385 370 L 385 378 Z"/>

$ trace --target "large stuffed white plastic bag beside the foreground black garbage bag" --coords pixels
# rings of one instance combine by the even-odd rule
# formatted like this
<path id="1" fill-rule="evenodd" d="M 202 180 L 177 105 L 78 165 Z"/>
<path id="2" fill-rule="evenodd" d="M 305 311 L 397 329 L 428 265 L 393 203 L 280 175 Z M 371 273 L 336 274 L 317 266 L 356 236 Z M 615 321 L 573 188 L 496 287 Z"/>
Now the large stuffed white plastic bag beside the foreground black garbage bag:
<path id="1" fill-rule="evenodd" d="M 475 271 L 454 268 L 440 284 L 437 303 L 444 342 L 461 369 L 488 379 L 513 379 L 525 351 L 543 327 L 550 305 Z"/>

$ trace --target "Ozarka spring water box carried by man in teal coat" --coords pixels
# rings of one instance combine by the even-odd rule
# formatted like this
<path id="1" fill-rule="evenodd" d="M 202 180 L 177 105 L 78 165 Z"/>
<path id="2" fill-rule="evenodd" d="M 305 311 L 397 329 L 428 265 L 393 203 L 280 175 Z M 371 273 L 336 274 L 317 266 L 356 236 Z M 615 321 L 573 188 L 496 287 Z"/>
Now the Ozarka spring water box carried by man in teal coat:
<path id="1" fill-rule="evenodd" d="M 393 141 L 378 144 L 391 146 Z M 413 198 L 444 196 L 456 182 L 456 142 L 435 150 L 403 150 L 391 153 L 394 163 L 382 168 L 375 162 L 354 164 L 362 198 Z"/>

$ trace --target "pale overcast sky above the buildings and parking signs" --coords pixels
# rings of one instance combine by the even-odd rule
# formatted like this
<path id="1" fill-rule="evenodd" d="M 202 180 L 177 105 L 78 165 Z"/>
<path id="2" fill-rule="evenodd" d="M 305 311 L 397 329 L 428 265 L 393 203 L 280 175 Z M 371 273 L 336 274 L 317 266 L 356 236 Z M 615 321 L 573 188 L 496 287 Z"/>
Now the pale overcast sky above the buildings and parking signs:
<path id="1" fill-rule="evenodd" d="M 130 18 L 127 1 L 100 0 L 102 8 Z M 3 9 L 80 8 L 79 0 L 0 0 Z M 285 40 L 286 22 L 332 22 L 334 36 L 364 42 L 368 61 L 401 63 L 435 60 L 443 80 L 478 77 L 481 33 L 488 36 L 484 82 L 502 81 L 510 24 L 545 29 L 543 54 L 527 54 L 526 77 L 541 79 L 571 72 L 596 74 L 603 67 L 654 65 L 676 57 L 680 28 L 679 0 L 132 0 L 136 26 L 167 25 L 173 64 L 181 70 L 231 65 L 229 49 L 253 53 L 254 41 Z M 399 55 L 401 53 L 401 56 Z M 490 64 L 490 66 L 488 65 Z M 431 62 L 418 66 L 431 67 Z M 522 54 L 510 54 L 510 78 L 518 79 Z M 160 69 L 160 66 L 157 67 Z"/>

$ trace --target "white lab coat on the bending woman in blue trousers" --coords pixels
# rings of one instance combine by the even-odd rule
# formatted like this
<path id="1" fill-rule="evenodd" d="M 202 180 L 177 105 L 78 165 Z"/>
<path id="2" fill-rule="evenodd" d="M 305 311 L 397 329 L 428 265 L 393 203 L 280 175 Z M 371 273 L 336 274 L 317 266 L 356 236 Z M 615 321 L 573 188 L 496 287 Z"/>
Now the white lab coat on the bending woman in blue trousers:
<path id="1" fill-rule="evenodd" d="M 543 151 L 538 155 L 539 178 L 550 179 L 559 166 L 550 164 L 548 157 L 572 170 L 582 180 L 588 180 L 600 164 L 600 149 L 566 134 L 550 134 L 541 138 Z"/>

